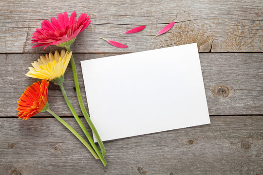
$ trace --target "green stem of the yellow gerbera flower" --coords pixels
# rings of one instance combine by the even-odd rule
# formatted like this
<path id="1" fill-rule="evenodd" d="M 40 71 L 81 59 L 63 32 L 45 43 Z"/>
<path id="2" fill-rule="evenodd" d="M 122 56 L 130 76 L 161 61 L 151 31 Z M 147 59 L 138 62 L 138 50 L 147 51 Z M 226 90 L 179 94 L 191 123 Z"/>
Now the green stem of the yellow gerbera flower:
<path id="1" fill-rule="evenodd" d="M 73 116 L 75 117 L 75 120 L 77 121 L 78 125 L 80 126 L 80 128 L 82 129 L 82 131 L 84 132 L 84 134 L 86 135 L 86 137 L 88 138 L 88 140 L 90 141 L 92 147 L 94 148 L 95 152 L 97 153 L 98 157 L 100 158 L 101 162 L 103 163 L 104 166 L 106 166 L 107 162 L 104 159 L 104 157 L 101 155 L 101 153 L 99 152 L 99 149 L 97 148 L 96 144 L 94 143 L 92 137 L 90 136 L 90 134 L 88 133 L 88 131 L 86 130 L 85 126 L 83 125 L 83 123 L 80 121 L 79 117 L 77 116 L 74 108 L 72 107 L 71 103 L 69 102 L 69 99 L 67 97 L 67 94 L 65 92 L 65 89 L 63 87 L 63 84 L 59 85 L 59 87 L 61 88 L 62 94 L 64 96 L 64 99 L 67 103 L 67 105 L 69 106 L 69 109 L 71 111 L 71 113 L 73 114 Z"/>

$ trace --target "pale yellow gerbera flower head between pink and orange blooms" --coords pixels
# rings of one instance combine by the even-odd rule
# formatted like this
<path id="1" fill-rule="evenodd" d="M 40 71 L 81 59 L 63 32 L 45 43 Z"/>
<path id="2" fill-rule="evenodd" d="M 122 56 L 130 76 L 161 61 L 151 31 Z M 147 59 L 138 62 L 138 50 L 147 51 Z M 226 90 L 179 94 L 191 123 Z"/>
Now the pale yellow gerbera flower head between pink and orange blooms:
<path id="1" fill-rule="evenodd" d="M 29 67 L 29 71 L 26 76 L 45 79 L 52 81 L 56 85 L 64 82 L 64 73 L 68 67 L 72 52 L 66 52 L 62 50 L 60 54 L 58 51 L 54 53 L 41 55 L 38 61 L 31 63 L 32 67 Z"/>

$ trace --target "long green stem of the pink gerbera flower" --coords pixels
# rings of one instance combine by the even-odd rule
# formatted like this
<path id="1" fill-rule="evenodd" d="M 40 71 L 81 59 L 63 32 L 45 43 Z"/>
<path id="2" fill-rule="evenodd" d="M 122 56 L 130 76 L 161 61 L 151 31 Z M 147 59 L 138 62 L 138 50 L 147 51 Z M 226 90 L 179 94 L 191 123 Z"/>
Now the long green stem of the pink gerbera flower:
<path id="1" fill-rule="evenodd" d="M 68 50 L 68 52 L 71 52 L 69 46 L 67 46 L 66 49 Z M 96 128 L 95 128 L 93 122 L 91 121 L 91 118 L 90 118 L 89 114 L 87 113 L 86 108 L 85 108 L 85 106 L 83 104 L 83 100 L 82 100 L 82 97 L 81 97 L 80 88 L 79 88 L 79 84 L 78 84 L 77 73 L 76 73 L 76 66 L 75 66 L 73 55 L 71 56 L 70 62 L 71 62 L 71 67 L 72 67 L 72 71 L 73 71 L 73 77 L 74 77 L 74 82 L 75 82 L 77 99 L 78 99 L 78 103 L 79 103 L 80 109 L 81 109 L 81 111 L 82 111 L 87 123 L 90 125 L 96 140 L 98 141 L 98 144 L 99 144 L 99 147 L 100 147 L 102 155 L 105 156 L 106 155 L 105 147 L 104 147 L 104 145 L 103 145 L 103 143 L 102 143 L 102 141 L 101 141 L 101 139 L 99 137 L 98 131 L 96 130 Z"/>

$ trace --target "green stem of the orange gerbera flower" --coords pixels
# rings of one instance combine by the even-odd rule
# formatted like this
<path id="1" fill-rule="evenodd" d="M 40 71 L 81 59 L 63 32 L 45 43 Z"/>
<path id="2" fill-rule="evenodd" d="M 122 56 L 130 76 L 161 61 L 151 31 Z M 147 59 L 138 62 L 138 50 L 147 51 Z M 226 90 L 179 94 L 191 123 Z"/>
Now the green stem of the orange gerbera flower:
<path id="1" fill-rule="evenodd" d="M 52 110 L 50 110 L 49 108 L 47 108 L 47 110 L 51 115 L 53 115 L 60 123 L 62 123 L 64 126 L 66 126 L 66 128 L 68 128 L 76 137 L 78 140 L 80 140 L 87 148 L 88 150 L 91 152 L 91 154 L 98 159 L 97 154 L 94 152 L 94 150 L 92 149 L 92 147 L 68 124 L 66 123 L 63 119 L 61 119 L 58 115 L 56 115 Z"/>

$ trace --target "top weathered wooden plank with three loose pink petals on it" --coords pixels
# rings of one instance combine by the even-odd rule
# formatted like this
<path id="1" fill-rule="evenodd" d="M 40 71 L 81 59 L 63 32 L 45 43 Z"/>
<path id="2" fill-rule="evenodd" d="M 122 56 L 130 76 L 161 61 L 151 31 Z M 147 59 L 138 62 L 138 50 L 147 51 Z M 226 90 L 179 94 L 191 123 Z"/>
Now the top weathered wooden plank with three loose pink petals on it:
<path id="1" fill-rule="evenodd" d="M 200 52 L 263 52 L 263 1 L 216 0 L 2 0 L 0 7 L 0 53 L 46 52 L 31 49 L 30 37 L 43 19 L 73 10 L 91 15 L 92 23 L 80 34 L 75 53 L 129 53 L 197 42 Z M 56 8 L 55 8 L 56 7 Z M 30 9 L 30 10 L 28 10 Z M 43 10 L 44 9 L 44 10 Z M 165 35 L 153 38 L 166 24 L 175 26 Z M 121 35 L 138 25 L 140 33 Z M 119 49 L 99 36 L 117 40 L 129 47 Z M 47 51 L 54 51 L 49 47 Z"/>

